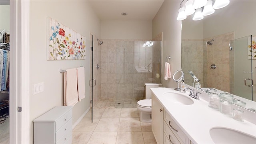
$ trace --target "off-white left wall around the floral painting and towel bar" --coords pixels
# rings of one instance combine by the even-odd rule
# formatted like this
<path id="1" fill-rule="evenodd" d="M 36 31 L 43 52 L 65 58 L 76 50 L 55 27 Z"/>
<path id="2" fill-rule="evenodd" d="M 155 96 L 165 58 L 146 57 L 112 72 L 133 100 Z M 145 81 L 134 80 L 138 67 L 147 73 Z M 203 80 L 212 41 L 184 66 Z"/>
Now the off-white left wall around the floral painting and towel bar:
<path id="1" fill-rule="evenodd" d="M 86 37 L 85 60 L 46 60 L 47 16 Z M 64 74 L 60 69 L 85 67 L 86 98 L 73 108 L 73 124 L 90 108 L 90 32 L 100 36 L 100 20 L 87 1 L 30 1 L 30 143 L 33 120 L 55 106 L 63 105 Z M 33 95 L 33 84 L 44 82 L 44 92 Z"/>

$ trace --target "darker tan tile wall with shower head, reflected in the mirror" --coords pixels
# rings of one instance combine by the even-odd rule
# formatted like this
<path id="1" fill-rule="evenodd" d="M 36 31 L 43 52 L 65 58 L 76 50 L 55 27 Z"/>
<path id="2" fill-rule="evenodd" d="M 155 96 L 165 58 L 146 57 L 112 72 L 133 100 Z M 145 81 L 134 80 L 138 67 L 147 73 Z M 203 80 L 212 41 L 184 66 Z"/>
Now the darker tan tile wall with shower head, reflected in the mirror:
<path id="1" fill-rule="evenodd" d="M 230 92 L 230 40 L 234 40 L 234 32 L 214 36 L 212 45 L 204 45 L 206 61 L 204 61 L 205 87 L 214 87 Z M 206 43 L 209 38 L 204 40 Z M 211 69 L 211 64 L 216 64 L 216 69 Z"/>

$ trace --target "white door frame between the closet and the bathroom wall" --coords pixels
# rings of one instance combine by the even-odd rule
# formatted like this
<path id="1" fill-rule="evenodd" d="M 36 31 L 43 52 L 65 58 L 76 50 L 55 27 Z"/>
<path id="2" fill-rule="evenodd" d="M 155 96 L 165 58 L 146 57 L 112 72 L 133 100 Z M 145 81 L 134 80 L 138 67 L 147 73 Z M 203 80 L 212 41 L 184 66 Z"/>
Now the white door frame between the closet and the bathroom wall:
<path id="1" fill-rule="evenodd" d="M 29 3 L 10 0 L 10 144 L 30 143 Z"/>

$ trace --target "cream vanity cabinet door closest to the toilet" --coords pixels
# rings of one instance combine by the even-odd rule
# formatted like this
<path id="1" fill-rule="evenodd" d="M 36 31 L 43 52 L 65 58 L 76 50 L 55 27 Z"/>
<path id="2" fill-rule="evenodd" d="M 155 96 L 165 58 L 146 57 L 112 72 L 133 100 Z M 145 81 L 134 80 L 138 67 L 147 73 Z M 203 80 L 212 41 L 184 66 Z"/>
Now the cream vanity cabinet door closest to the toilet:
<path id="1" fill-rule="evenodd" d="M 164 111 L 158 99 L 152 94 L 152 132 L 158 144 L 164 140 Z"/>

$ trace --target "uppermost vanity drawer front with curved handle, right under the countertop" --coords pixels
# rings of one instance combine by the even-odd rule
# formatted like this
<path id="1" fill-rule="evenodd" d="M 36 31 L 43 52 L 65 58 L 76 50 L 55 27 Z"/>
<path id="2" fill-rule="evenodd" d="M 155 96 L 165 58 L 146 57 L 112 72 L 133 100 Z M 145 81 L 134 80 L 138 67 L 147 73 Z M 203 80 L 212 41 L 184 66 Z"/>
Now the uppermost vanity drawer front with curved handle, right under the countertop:
<path id="1" fill-rule="evenodd" d="M 166 121 L 166 124 L 168 127 L 172 130 L 174 135 L 180 140 L 182 144 L 188 144 L 188 137 L 182 132 L 182 130 L 179 128 L 179 126 L 172 120 L 172 118 L 169 116 L 169 114 L 164 111 L 164 120 Z"/>

